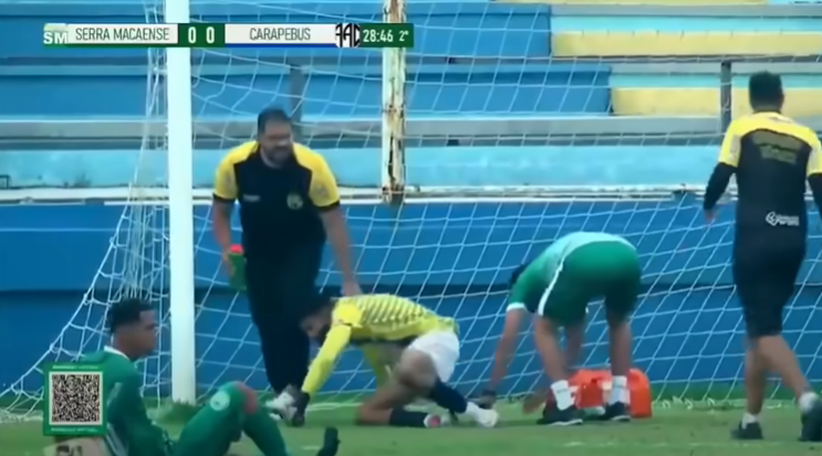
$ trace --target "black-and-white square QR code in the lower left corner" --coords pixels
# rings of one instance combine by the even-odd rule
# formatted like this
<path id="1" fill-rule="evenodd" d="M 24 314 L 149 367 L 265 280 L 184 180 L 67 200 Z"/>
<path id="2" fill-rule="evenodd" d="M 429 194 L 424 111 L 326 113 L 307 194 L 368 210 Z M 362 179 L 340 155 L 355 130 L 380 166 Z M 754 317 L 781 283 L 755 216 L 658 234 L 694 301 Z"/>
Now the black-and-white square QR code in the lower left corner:
<path id="1" fill-rule="evenodd" d="M 98 373 L 52 373 L 49 404 L 51 423 L 102 423 L 102 381 Z"/>

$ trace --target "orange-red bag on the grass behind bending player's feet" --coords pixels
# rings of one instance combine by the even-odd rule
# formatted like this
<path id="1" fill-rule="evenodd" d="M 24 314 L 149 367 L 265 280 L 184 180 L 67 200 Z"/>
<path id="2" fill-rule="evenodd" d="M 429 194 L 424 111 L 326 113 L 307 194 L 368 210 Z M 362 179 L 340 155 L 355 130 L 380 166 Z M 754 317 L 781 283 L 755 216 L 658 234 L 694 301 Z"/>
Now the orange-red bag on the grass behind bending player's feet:
<path id="1" fill-rule="evenodd" d="M 601 407 L 611 394 L 611 371 L 583 369 L 569 380 L 571 388 L 576 390 L 575 401 L 579 409 Z M 651 382 L 647 375 L 638 369 L 628 372 L 628 391 L 631 394 L 631 416 L 646 418 L 652 415 Z M 548 402 L 554 402 L 553 394 L 549 394 Z"/>

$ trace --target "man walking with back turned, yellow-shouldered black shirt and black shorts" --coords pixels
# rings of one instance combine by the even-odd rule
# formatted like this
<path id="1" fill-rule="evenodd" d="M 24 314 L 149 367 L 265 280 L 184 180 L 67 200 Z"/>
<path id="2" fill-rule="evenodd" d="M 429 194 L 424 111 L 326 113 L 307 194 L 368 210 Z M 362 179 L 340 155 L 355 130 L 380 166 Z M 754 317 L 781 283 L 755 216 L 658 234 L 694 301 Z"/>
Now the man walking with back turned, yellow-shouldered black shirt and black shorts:
<path id="1" fill-rule="evenodd" d="M 793 391 L 802 417 L 801 439 L 822 442 L 822 399 L 802 373 L 782 337 L 784 308 L 791 301 L 808 244 L 810 187 L 822 209 L 822 144 L 816 132 L 782 115 L 782 78 L 756 73 L 748 82 L 753 114 L 735 119 L 719 149 L 719 162 L 705 189 L 708 222 L 731 177 L 738 201 L 731 272 L 742 307 L 746 411 L 733 438 L 760 439 L 769 371 Z"/>

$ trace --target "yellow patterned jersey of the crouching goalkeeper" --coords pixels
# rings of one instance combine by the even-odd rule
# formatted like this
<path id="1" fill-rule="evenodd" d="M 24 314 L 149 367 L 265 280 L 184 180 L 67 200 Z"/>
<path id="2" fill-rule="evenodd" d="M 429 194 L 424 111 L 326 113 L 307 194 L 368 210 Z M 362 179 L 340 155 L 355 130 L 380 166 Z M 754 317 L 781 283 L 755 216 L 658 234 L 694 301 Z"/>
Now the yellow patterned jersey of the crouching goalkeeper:
<path id="1" fill-rule="evenodd" d="M 315 394 L 325 383 L 337 358 L 346 346 L 362 346 L 381 383 L 385 371 L 374 359 L 372 346 L 406 346 L 425 333 L 438 330 L 457 331 L 452 318 L 436 312 L 409 299 L 394 295 L 363 295 L 337 300 L 325 341 L 311 362 L 302 391 Z"/>

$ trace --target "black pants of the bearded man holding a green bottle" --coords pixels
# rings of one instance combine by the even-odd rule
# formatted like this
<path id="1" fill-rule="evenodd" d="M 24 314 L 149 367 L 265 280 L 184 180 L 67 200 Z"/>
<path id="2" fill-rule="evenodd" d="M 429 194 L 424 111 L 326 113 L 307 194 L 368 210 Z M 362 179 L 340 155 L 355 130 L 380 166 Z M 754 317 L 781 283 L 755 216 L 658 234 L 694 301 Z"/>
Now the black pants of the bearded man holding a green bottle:
<path id="1" fill-rule="evenodd" d="M 247 255 L 246 287 L 266 375 L 277 393 L 288 385 L 299 389 L 309 370 L 310 349 L 300 317 L 305 299 L 316 289 L 322 247 L 264 256 L 251 253 Z"/>

